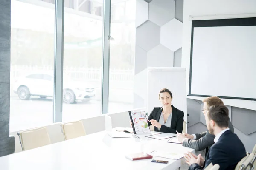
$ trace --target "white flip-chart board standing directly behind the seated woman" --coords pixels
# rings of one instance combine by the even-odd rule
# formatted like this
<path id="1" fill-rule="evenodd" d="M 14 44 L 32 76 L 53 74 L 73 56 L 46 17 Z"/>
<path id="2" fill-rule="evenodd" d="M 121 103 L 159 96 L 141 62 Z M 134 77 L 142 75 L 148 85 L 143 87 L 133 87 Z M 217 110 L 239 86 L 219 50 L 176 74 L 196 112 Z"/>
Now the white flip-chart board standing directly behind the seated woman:
<path id="1" fill-rule="evenodd" d="M 187 122 L 186 68 L 148 67 L 148 115 L 154 107 L 162 106 L 158 99 L 161 88 L 168 88 L 172 92 L 172 105 L 184 112 Z"/>

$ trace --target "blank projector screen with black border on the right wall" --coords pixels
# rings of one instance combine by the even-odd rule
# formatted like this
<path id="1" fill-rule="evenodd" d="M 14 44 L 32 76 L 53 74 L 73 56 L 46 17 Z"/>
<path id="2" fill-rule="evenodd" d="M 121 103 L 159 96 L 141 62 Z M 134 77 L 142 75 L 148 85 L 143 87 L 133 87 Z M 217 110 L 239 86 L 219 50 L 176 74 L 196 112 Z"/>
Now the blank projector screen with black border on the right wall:
<path id="1" fill-rule="evenodd" d="M 256 100 L 256 18 L 192 21 L 189 96 Z"/>

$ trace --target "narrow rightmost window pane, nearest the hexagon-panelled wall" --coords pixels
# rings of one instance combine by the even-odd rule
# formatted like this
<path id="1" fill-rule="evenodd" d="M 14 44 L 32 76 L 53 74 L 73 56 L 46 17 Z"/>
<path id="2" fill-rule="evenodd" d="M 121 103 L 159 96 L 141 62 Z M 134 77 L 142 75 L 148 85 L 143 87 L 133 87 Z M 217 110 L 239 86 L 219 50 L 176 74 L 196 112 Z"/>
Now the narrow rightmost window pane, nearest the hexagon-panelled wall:
<path id="1" fill-rule="evenodd" d="M 136 0 L 112 1 L 109 113 L 133 108 Z"/>

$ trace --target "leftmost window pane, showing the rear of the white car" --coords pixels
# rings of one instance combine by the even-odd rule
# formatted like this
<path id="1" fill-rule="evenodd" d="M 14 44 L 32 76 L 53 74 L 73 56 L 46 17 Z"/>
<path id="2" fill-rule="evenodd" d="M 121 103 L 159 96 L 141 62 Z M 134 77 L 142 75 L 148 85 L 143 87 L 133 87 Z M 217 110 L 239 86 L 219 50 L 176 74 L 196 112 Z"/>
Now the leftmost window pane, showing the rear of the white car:
<path id="1" fill-rule="evenodd" d="M 53 81 L 43 74 L 53 75 L 54 9 L 51 0 L 11 2 L 10 132 L 53 122 Z"/>

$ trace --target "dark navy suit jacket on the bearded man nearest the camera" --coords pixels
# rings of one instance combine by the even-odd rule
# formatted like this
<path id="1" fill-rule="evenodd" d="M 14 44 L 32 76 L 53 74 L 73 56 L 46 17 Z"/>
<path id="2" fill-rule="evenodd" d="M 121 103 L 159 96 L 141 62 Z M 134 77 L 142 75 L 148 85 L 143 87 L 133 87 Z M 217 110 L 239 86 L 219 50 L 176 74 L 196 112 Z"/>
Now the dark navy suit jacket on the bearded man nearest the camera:
<path id="1" fill-rule="evenodd" d="M 210 147 L 207 156 L 205 157 L 204 167 L 207 167 L 210 163 L 219 164 L 219 170 L 234 170 L 236 164 L 246 156 L 244 144 L 231 130 L 224 132 L 219 138 L 218 142 Z M 192 164 L 189 170 L 200 170 L 198 164 Z"/>

